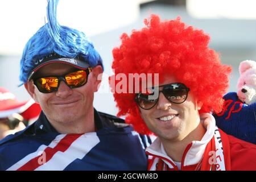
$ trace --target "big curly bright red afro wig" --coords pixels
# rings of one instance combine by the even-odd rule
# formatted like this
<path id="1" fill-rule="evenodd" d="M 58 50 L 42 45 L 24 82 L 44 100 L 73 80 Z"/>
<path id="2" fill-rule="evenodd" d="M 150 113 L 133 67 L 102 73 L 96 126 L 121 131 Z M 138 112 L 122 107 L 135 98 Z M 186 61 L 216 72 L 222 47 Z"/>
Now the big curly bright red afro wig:
<path id="1" fill-rule="evenodd" d="M 200 113 L 221 111 L 232 69 L 221 64 L 218 53 L 208 47 L 209 35 L 185 25 L 179 17 L 161 22 L 158 15 L 151 15 L 144 24 L 146 27 L 133 30 L 130 36 L 122 34 L 121 46 L 113 49 L 115 75 L 159 73 L 161 82 L 170 74 L 203 103 Z M 151 134 L 141 118 L 135 93 L 114 92 L 114 98 L 118 116 L 126 115 L 126 122 L 139 133 Z"/>

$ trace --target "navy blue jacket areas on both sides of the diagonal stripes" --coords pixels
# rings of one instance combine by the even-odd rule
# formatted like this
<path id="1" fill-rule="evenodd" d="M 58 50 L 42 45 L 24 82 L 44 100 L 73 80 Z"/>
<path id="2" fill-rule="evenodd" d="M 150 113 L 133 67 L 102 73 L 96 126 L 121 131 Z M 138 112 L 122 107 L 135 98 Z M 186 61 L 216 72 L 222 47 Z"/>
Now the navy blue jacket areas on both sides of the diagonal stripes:
<path id="1" fill-rule="evenodd" d="M 64 170 L 146 170 L 146 154 L 139 135 L 134 135 L 132 131 L 130 126 L 98 130 L 100 142 L 84 158 L 73 160 Z M 59 134 L 19 135 L 1 141 L 0 170 L 10 168 L 28 154 L 37 151 L 42 144 L 48 146 Z"/>

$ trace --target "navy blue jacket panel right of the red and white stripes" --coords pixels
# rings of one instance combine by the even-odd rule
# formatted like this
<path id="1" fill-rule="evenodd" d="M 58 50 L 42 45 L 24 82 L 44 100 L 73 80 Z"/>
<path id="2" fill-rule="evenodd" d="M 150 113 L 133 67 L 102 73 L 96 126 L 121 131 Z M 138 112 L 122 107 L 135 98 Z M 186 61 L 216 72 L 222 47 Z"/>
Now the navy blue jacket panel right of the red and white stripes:
<path id="1" fill-rule="evenodd" d="M 69 164 L 65 170 L 76 169 L 79 166 L 77 164 L 80 164 L 82 170 L 146 171 L 147 158 L 138 136 L 135 137 L 131 133 L 123 135 L 120 131 L 111 131 L 111 134 L 109 132 L 110 130 L 97 132 L 100 144 L 82 160 L 77 159 Z"/>

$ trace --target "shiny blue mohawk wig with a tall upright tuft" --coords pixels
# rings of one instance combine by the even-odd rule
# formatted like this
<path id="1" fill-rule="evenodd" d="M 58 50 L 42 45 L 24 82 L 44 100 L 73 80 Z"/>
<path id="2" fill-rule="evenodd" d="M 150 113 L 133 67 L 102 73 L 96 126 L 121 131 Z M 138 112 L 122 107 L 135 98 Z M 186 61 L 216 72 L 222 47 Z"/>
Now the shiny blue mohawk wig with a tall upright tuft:
<path id="1" fill-rule="evenodd" d="M 28 75 L 35 68 L 34 62 L 43 59 L 51 53 L 75 58 L 77 56 L 86 61 L 90 67 L 102 65 L 99 53 L 94 49 L 83 32 L 73 28 L 60 26 L 56 19 L 58 0 L 48 0 L 47 20 L 34 36 L 28 40 L 20 60 L 20 81 L 27 82 Z M 102 65 L 103 67 L 103 65 Z"/>

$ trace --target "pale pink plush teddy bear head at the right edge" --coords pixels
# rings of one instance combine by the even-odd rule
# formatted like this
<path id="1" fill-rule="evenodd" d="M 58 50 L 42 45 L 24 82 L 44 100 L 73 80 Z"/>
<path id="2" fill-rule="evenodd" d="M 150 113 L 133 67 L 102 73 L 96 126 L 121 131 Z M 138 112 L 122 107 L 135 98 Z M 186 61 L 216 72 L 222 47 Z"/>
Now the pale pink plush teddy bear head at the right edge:
<path id="1" fill-rule="evenodd" d="M 253 104 L 256 102 L 256 61 L 242 61 L 239 71 L 237 96 L 247 105 Z"/>

